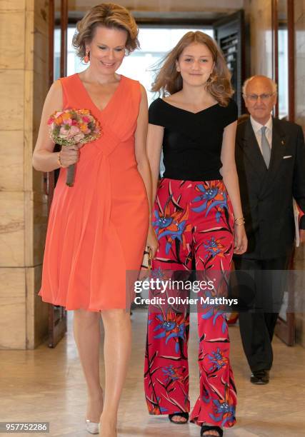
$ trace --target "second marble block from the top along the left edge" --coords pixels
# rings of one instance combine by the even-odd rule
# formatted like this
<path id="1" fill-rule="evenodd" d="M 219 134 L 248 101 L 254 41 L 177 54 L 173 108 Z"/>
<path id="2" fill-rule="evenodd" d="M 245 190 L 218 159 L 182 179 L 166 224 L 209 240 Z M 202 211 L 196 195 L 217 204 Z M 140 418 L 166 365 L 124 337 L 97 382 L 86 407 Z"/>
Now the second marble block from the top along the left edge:
<path id="1" fill-rule="evenodd" d="M 24 71 L 0 69 L 0 131 L 24 128 Z"/>

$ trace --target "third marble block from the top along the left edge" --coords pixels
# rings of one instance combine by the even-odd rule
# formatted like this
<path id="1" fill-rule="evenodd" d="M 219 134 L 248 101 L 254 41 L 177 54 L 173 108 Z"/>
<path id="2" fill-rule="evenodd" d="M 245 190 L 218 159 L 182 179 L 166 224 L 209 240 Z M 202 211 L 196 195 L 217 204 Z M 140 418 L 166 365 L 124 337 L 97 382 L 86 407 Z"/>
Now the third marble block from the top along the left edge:
<path id="1" fill-rule="evenodd" d="M 0 190 L 24 187 L 24 136 L 22 131 L 0 131 Z"/>

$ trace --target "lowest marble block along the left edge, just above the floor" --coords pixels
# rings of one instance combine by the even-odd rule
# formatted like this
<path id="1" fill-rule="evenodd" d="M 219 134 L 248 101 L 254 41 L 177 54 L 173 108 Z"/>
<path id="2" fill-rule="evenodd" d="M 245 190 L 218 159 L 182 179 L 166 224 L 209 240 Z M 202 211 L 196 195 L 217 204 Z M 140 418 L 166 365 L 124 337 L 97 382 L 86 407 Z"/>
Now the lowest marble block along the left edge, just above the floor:
<path id="1" fill-rule="evenodd" d="M 0 349 L 25 349 L 25 326 L 25 268 L 0 268 Z"/>

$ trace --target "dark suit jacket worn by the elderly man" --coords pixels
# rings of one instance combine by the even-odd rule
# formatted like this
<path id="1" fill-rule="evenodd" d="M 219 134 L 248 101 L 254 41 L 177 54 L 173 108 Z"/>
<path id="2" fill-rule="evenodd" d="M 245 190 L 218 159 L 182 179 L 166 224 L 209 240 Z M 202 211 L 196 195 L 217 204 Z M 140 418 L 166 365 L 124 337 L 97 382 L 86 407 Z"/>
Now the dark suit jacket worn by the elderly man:
<path id="1" fill-rule="evenodd" d="M 248 237 L 248 250 L 243 256 L 256 259 L 286 256 L 294 243 L 292 197 L 305 212 L 305 146 L 301 126 L 273 119 L 269 169 L 250 119 L 237 126 L 235 150 Z"/>

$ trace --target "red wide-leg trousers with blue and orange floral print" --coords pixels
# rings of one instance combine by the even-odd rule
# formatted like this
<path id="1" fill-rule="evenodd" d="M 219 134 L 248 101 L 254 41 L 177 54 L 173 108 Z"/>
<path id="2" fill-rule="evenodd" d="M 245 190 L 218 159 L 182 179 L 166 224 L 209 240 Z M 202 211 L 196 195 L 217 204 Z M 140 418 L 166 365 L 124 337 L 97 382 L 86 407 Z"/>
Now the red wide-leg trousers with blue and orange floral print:
<path id="1" fill-rule="evenodd" d="M 159 249 L 151 273 L 193 269 L 196 277 L 214 280 L 205 296 L 224 296 L 234 248 L 234 216 L 223 181 L 161 179 L 152 216 Z M 230 427 L 236 422 L 236 388 L 225 312 L 208 304 L 199 304 L 196 311 L 200 381 L 191 421 Z M 149 306 L 144 387 L 150 414 L 190 411 L 188 339 L 188 308 Z"/>

